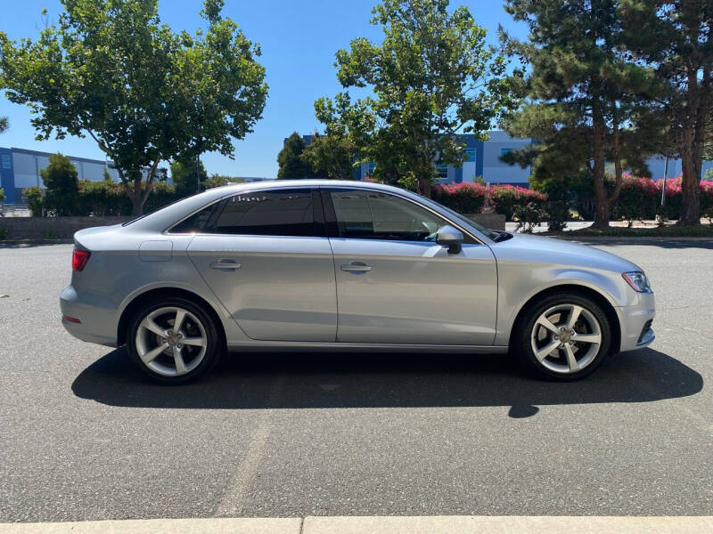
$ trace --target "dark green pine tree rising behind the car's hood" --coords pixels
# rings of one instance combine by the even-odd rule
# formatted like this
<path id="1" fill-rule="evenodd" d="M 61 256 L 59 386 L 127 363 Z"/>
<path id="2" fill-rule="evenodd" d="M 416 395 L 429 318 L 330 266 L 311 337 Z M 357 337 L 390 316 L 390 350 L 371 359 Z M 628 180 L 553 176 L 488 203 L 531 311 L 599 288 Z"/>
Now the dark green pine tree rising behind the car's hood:
<path id="1" fill-rule="evenodd" d="M 505 155 L 532 165 L 536 179 L 586 173 L 594 186 L 594 227 L 609 226 L 624 168 L 645 168 L 652 150 L 648 95 L 656 90 L 651 69 L 632 61 L 616 0 L 505 0 L 505 11 L 529 25 L 529 42 L 504 35 L 509 51 L 530 66 L 514 73 L 512 86 L 526 97 L 504 117 L 511 135 L 535 143 Z M 636 128 L 647 121 L 646 128 Z M 605 185 L 607 161 L 614 187 Z"/>

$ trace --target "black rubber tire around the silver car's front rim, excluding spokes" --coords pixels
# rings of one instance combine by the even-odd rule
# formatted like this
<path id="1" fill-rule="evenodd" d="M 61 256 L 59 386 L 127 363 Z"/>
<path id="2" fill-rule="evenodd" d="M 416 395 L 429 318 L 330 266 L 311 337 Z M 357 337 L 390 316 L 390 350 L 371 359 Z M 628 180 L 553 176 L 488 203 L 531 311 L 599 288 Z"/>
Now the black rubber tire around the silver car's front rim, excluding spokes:
<path id="1" fill-rule="evenodd" d="M 575 342 L 573 345 L 570 345 L 572 352 L 577 351 L 575 352 L 575 357 L 577 357 L 579 351 L 583 351 L 582 354 L 584 356 L 581 360 L 578 360 L 578 363 L 586 359 L 586 364 L 582 368 L 578 368 L 578 370 L 574 371 L 553 370 L 553 368 L 570 367 L 568 365 L 569 360 L 567 359 L 566 347 L 555 348 L 551 355 L 545 356 L 542 360 L 538 360 L 533 344 L 542 344 L 538 348 L 544 351 L 548 343 L 554 344 L 556 341 L 554 337 L 550 339 L 546 338 L 547 335 L 554 336 L 550 334 L 551 330 L 544 329 L 545 338 L 543 341 L 539 341 L 539 338 L 543 336 L 544 327 L 538 326 L 537 332 L 534 330 L 536 328 L 536 322 L 542 314 L 560 306 L 562 307 L 561 313 L 564 314 L 566 312 L 565 307 L 569 305 L 579 306 L 588 312 L 588 314 L 581 312 L 581 316 L 583 317 L 581 320 L 578 320 L 577 327 L 574 329 L 580 329 L 582 330 L 581 334 L 586 334 L 587 320 L 594 318 L 594 320 L 599 323 L 598 327 L 601 342 L 596 352 L 594 344 Z M 558 312 L 554 312 L 552 317 L 557 317 L 557 313 Z M 567 316 L 564 316 L 564 322 L 566 322 L 566 319 Z M 559 327 L 560 324 L 558 321 L 558 324 L 554 326 Z M 537 378 L 557 382 L 579 380 L 580 378 L 591 375 L 611 355 L 610 320 L 606 313 L 603 312 L 602 307 L 586 295 L 565 293 L 547 296 L 542 301 L 529 305 L 529 307 L 522 312 L 514 328 L 515 331 L 512 334 L 512 352 L 514 352 L 514 355 L 520 360 L 523 367 Z M 592 331 L 594 331 L 594 329 Z M 533 337 L 535 338 L 534 340 Z M 591 355 L 590 349 L 592 352 Z"/>

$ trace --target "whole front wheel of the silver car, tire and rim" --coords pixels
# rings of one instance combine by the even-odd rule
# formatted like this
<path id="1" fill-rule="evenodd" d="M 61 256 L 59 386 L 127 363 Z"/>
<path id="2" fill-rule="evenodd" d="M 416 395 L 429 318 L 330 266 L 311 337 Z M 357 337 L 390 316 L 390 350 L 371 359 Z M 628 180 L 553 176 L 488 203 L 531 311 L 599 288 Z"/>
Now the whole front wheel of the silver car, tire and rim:
<path id="1" fill-rule="evenodd" d="M 535 375 L 560 381 L 594 372 L 611 352 L 606 313 L 585 295 L 553 295 L 529 308 L 514 346 Z"/>

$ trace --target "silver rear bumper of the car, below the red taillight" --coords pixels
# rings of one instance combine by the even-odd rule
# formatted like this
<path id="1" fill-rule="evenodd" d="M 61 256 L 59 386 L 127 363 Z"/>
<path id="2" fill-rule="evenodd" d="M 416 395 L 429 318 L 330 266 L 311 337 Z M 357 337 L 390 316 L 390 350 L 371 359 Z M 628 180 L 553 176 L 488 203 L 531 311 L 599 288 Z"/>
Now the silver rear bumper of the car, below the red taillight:
<path id="1" fill-rule="evenodd" d="M 78 293 L 73 286 L 60 295 L 61 324 L 72 336 L 88 343 L 117 346 L 117 309 L 101 295 Z M 65 320 L 64 316 L 81 322 Z"/>

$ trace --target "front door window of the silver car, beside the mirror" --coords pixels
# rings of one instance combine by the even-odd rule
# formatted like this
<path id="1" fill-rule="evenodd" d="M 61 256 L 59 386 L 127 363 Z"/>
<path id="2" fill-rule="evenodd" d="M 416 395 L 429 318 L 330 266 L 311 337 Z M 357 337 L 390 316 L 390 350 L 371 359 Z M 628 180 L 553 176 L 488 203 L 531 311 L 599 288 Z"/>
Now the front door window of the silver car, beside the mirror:
<path id="1" fill-rule="evenodd" d="M 330 191 L 340 237 L 431 241 L 447 221 L 403 198 L 367 190 Z"/>

